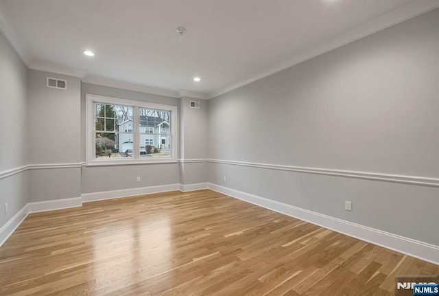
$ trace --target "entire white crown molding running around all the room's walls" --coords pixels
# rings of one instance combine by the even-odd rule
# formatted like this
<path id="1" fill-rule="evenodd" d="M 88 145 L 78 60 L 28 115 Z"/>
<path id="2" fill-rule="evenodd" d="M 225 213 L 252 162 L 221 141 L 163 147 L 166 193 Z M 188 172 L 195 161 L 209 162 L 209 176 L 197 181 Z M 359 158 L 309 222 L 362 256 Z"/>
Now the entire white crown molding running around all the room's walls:
<path id="1" fill-rule="evenodd" d="M 29 53 L 24 43 L 20 41 L 20 38 L 18 34 L 16 34 L 13 27 L 8 25 L 8 19 L 3 12 L 5 10 L 1 9 L 1 2 L 0 2 L 0 31 L 3 33 L 3 35 L 5 35 L 10 45 L 14 48 L 15 52 L 20 56 L 21 60 L 23 60 L 23 62 L 29 69 L 35 69 L 39 71 L 47 71 L 47 72 L 58 73 L 66 76 L 78 77 L 81 78 L 82 81 L 85 83 L 97 84 L 106 87 L 115 87 L 118 89 L 126 89 L 129 91 L 139 91 L 141 93 L 163 95 L 171 98 L 182 98 L 183 96 L 187 96 L 190 98 L 196 98 L 200 100 L 205 100 L 205 99 L 209 100 L 211 98 L 215 98 L 224 93 L 228 93 L 230 91 L 238 89 L 239 87 L 244 87 L 247 84 L 250 84 L 257 80 L 261 80 L 262 78 L 265 78 L 274 73 L 277 73 L 279 71 L 297 65 L 300 62 L 304 62 L 305 60 L 309 60 L 316 56 L 320 56 L 321 54 L 329 52 L 333 49 L 342 47 L 343 45 L 346 45 L 360 38 L 364 38 L 370 34 L 383 30 L 386 27 L 396 25 L 397 23 L 401 23 L 402 21 L 410 19 L 419 14 L 423 14 L 424 12 L 433 10 L 434 8 L 438 8 L 438 7 L 439 7 L 439 1 L 436 0 L 410 1 L 409 3 L 406 3 L 405 5 L 402 5 L 401 7 L 396 8 L 395 10 L 392 10 L 385 14 L 381 14 L 381 16 L 378 16 L 377 18 L 372 19 L 371 21 L 358 25 L 357 27 L 354 27 L 353 29 L 348 30 L 342 34 L 339 34 L 334 38 L 330 38 L 327 41 L 318 43 L 313 47 L 305 48 L 299 50 L 298 52 L 294 52 L 292 53 L 292 57 L 289 60 L 286 60 L 285 62 L 282 62 L 278 65 L 274 65 L 273 67 L 270 67 L 270 69 L 267 69 L 266 71 L 263 71 L 261 73 L 254 73 L 254 75 L 248 77 L 246 80 L 241 80 L 240 82 L 237 82 L 233 85 L 229 85 L 226 88 L 217 89 L 216 91 L 212 91 L 209 94 L 195 93 L 192 91 L 185 91 L 185 90 L 171 91 L 167 89 L 156 89 L 153 87 L 145 87 L 142 85 L 130 84 L 128 82 L 121 82 L 119 80 L 87 76 L 87 71 L 84 71 L 82 69 L 73 69 L 71 67 L 64 67 L 50 62 L 43 62 L 39 60 L 31 62 L 32 57 L 29 56 Z"/>

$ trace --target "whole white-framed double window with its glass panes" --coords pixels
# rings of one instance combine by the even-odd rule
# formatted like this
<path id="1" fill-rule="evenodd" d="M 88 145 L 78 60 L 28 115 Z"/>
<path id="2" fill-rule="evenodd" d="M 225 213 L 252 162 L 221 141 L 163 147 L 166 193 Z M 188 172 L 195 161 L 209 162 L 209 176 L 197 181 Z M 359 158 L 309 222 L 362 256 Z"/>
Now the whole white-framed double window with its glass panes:
<path id="1" fill-rule="evenodd" d="M 175 106 L 86 95 L 87 164 L 176 161 Z"/>

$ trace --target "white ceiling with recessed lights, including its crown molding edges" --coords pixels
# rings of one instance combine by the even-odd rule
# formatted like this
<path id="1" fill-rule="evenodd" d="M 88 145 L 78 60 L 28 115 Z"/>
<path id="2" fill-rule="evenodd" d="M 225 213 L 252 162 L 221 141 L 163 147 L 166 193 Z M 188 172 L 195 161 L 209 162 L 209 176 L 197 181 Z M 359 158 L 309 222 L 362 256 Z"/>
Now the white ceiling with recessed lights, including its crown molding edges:
<path id="1" fill-rule="evenodd" d="M 0 27 L 32 69 L 211 98 L 438 6 L 437 0 L 0 0 Z M 187 29 L 182 41 L 179 26 Z M 195 76 L 202 81 L 193 82 Z"/>

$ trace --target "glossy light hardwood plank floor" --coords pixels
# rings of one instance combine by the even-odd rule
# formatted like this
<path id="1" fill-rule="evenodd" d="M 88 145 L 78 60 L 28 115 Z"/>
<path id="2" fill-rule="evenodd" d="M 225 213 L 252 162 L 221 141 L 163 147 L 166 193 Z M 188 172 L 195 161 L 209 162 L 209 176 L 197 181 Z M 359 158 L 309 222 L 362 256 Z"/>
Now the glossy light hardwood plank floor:
<path id="1" fill-rule="evenodd" d="M 439 266 L 210 190 L 30 214 L 0 295 L 394 295 Z"/>

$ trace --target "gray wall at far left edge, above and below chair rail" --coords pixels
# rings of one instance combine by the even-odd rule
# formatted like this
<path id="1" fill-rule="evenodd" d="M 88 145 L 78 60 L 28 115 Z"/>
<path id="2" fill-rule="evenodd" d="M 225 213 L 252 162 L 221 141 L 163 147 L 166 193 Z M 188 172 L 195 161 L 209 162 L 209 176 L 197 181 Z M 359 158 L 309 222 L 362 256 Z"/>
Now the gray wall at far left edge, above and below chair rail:
<path id="1" fill-rule="evenodd" d="M 0 32 L 0 173 L 27 165 L 26 67 Z M 0 227 L 27 203 L 27 172 L 0 177 Z M 8 203 L 8 214 L 4 204 Z"/>

